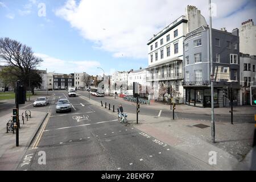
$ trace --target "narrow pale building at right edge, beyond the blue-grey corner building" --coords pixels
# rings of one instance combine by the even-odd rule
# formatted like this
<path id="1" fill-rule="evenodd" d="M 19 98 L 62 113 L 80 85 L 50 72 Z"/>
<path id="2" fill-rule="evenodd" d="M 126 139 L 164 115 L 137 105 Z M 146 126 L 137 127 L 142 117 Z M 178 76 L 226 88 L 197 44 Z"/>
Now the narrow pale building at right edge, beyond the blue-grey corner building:
<path id="1" fill-rule="evenodd" d="M 250 104 L 250 86 L 255 86 L 256 56 L 240 53 L 240 78 L 241 78 L 241 105 Z"/>

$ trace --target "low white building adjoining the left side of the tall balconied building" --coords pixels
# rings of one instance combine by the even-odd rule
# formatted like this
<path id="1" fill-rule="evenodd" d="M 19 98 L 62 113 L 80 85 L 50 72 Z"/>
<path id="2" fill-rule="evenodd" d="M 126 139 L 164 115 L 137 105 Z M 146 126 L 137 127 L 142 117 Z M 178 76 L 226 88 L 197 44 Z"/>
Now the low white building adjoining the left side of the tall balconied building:
<path id="1" fill-rule="evenodd" d="M 146 76 L 147 76 L 146 69 L 138 69 L 135 71 L 131 71 L 128 74 L 129 88 L 133 88 L 133 82 L 138 82 L 139 84 L 146 86 L 146 84 L 147 84 Z"/>

